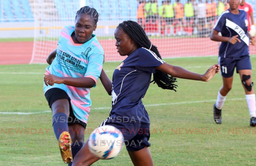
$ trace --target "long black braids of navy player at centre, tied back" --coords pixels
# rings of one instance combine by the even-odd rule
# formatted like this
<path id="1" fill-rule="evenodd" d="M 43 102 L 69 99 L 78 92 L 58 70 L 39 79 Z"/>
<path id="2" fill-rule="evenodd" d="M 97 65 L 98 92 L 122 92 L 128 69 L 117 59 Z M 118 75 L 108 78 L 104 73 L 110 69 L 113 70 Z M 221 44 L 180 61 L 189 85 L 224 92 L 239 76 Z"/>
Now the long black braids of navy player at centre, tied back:
<path id="1" fill-rule="evenodd" d="M 117 28 L 120 27 L 131 39 L 133 39 L 133 41 L 137 44 L 139 48 L 151 47 L 151 41 L 148 39 L 145 31 L 138 23 L 128 20 L 120 23 L 117 26 Z M 156 46 L 152 45 L 150 50 L 153 51 L 157 55 L 157 57 L 162 59 Z M 174 82 L 177 82 L 176 78 L 169 76 L 164 72 L 156 70 L 156 72 L 153 74 L 153 80 L 151 82 L 154 82 L 154 84 L 156 83 L 158 87 L 174 90 L 176 92 L 176 90 L 174 89 L 177 88 L 177 85 L 174 84 Z"/>

